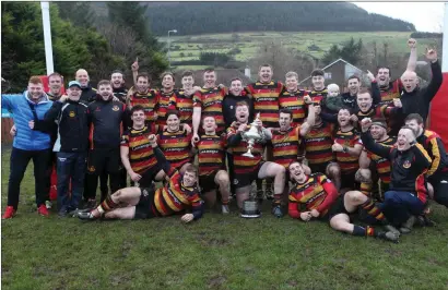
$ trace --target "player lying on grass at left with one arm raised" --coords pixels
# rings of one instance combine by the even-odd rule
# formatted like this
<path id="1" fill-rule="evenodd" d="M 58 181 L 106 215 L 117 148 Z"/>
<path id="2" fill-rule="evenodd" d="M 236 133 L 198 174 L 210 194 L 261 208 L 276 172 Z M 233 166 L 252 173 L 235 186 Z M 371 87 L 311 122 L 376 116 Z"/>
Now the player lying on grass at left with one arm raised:
<path id="1" fill-rule="evenodd" d="M 190 222 L 199 219 L 203 213 L 203 201 L 199 197 L 197 188 L 198 170 L 188 166 L 184 174 L 167 162 L 162 150 L 157 147 L 154 135 L 150 136 L 157 162 L 166 174 L 167 183 L 164 188 L 126 188 L 118 190 L 96 208 L 87 213 L 79 213 L 83 220 L 107 219 L 145 219 L 164 217 L 191 209 L 191 214 L 181 216 L 181 221 Z"/>

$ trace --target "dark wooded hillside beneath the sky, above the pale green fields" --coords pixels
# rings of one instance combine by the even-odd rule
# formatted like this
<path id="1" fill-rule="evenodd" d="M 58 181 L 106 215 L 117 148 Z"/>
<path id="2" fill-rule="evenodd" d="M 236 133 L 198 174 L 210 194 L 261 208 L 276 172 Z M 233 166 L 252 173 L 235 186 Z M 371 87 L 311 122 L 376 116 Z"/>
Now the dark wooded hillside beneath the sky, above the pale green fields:
<path id="1" fill-rule="evenodd" d="M 164 36 L 232 32 L 414 32 L 413 24 L 349 2 L 152 2 L 151 31 Z"/>

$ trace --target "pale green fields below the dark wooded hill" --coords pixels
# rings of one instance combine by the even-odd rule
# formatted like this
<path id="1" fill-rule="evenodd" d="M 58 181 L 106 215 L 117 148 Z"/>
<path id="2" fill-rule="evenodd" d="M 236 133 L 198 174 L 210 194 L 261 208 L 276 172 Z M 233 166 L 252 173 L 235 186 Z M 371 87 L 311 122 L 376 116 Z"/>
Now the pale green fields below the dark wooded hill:
<path id="1" fill-rule="evenodd" d="M 227 52 L 234 47 L 241 49 L 241 52 L 235 56 L 236 60 L 247 61 L 254 57 L 262 41 L 282 41 L 286 48 L 294 48 L 297 51 L 309 53 L 316 58 L 321 58 L 332 45 L 343 44 L 351 37 L 355 40 L 361 38 L 367 49 L 372 50 L 373 43 L 377 43 L 378 52 L 382 53 L 382 44 L 388 43 L 388 53 L 409 53 L 406 41 L 410 33 L 403 32 L 302 32 L 302 33 L 282 33 L 282 32 L 249 32 L 237 33 L 238 39 L 233 38 L 233 34 L 207 34 L 207 35 L 186 35 L 172 36 L 172 48 L 179 46 L 179 50 L 173 51 L 173 61 L 182 61 L 199 59 L 200 51 Z M 167 41 L 167 37 L 160 37 L 161 41 Z M 434 44 L 433 39 L 418 39 L 420 47 Z M 320 51 L 310 51 L 309 46 L 316 45 Z M 186 57 L 180 58 L 180 52 Z M 192 53 L 191 57 L 187 57 Z"/>

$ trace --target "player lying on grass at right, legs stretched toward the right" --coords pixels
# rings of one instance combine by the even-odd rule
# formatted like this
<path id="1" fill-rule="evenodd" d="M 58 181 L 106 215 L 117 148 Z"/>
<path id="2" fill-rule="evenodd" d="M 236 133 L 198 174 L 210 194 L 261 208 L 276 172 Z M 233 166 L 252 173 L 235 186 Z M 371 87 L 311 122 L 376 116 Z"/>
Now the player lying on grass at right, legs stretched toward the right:
<path id="1" fill-rule="evenodd" d="M 288 167 L 291 180 L 295 186 L 290 192 L 288 214 L 292 218 L 309 221 L 314 218 L 328 219 L 337 231 L 361 237 L 376 237 L 398 242 L 400 232 L 389 226 L 381 210 L 372 198 L 358 191 L 349 191 L 339 195 L 335 186 L 322 173 L 307 176 L 299 162 Z M 379 231 L 370 226 L 361 227 L 351 222 L 351 216 L 357 208 L 364 209 L 375 223 L 385 226 L 388 231 Z"/>

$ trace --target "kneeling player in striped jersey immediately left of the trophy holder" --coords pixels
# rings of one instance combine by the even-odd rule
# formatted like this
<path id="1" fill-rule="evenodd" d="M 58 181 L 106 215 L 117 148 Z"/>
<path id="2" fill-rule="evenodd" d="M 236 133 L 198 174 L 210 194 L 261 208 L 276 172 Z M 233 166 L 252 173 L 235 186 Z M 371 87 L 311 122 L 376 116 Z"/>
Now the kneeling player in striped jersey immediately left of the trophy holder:
<path id="1" fill-rule="evenodd" d="M 225 136 L 216 135 L 216 122 L 211 116 L 202 120 L 205 132 L 196 143 L 199 161 L 199 185 L 201 195 L 210 207 L 216 203 L 216 189 L 220 189 L 222 213 L 228 214 L 228 196 L 231 181 L 225 170 Z"/>

